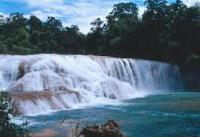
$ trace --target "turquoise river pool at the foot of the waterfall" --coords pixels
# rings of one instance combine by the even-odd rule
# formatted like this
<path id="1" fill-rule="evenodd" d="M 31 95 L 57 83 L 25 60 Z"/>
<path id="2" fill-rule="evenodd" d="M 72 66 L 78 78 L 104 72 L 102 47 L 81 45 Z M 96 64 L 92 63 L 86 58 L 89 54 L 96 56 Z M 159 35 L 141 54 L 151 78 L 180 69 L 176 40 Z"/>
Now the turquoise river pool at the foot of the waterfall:
<path id="1" fill-rule="evenodd" d="M 119 122 L 126 137 L 200 137 L 200 93 L 166 93 L 123 101 L 118 105 L 93 106 L 23 117 L 31 130 L 61 130 L 63 120 Z M 60 132 L 61 133 L 61 132 Z"/>

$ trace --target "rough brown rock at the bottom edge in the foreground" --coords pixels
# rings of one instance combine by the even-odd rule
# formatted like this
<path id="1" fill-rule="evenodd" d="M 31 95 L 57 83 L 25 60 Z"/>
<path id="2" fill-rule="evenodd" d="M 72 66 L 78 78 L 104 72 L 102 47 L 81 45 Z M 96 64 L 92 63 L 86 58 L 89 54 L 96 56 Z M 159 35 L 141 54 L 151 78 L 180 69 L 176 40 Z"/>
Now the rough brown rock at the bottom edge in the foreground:
<path id="1" fill-rule="evenodd" d="M 116 121 L 109 120 L 105 125 L 94 125 L 82 130 L 79 137 L 123 137 Z"/>

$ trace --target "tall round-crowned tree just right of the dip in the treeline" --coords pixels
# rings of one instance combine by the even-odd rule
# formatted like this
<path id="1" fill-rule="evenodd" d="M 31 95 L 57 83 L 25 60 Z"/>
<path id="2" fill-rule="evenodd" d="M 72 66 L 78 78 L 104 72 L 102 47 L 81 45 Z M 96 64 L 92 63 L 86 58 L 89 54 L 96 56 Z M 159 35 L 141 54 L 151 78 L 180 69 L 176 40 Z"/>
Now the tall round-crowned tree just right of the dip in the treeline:
<path id="1" fill-rule="evenodd" d="M 107 54 L 112 55 L 114 49 L 116 55 L 121 55 L 124 38 L 135 30 L 139 23 L 138 7 L 131 2 L 116 4 L 106 18 Z"/>

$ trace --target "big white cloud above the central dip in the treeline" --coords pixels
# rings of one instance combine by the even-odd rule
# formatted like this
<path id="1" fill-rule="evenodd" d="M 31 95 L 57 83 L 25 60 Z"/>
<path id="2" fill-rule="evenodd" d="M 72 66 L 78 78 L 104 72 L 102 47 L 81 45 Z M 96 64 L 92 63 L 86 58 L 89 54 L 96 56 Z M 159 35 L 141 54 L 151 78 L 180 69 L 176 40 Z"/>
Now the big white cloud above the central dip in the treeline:
<path id="1" fill-rule="evenodd" d="M 25 2 L 31 14 L 45 21 L 48 16 L 62 20 L 64 25 L 78 25 L 83 33 L 90 30 L 90 23 L 97 17 L 105 19 L 112 6 L 129 0 L 18 0 Z"/>

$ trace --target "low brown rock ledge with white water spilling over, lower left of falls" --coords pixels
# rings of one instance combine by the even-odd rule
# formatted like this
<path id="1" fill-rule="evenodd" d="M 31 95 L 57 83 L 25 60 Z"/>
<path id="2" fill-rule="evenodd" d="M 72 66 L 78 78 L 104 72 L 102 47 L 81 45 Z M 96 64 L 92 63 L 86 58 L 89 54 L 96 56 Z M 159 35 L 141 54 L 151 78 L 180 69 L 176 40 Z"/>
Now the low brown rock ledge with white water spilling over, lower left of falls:
<path id="1" fill-rule="evenodd" d="M 70 108 L 71 102 L 79 103 L 80 95 L 75 91 L 52 92 L 10 92 L 11 106 L 14 115 L 34 114 L 46 111 Z"/>

